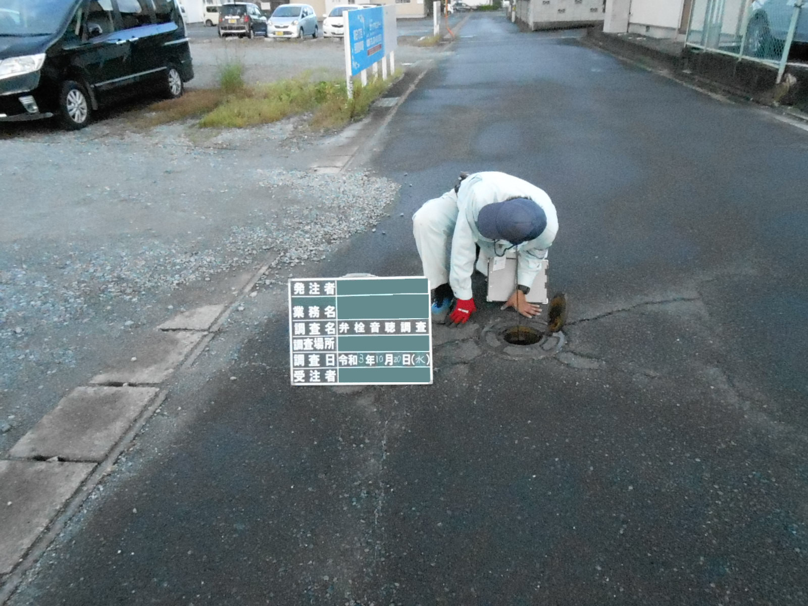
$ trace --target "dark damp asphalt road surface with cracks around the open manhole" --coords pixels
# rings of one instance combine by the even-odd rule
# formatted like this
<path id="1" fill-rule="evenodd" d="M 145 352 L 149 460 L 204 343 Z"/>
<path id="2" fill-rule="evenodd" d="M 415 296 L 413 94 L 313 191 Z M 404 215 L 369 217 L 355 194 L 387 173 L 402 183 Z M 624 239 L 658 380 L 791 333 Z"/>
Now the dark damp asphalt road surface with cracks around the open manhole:
<path id="1" fill-rule="evenodd" d="M 562 355 L 492 351 L 478 291 L 435 385 L 292 389 L 280 293 L 11 604 L 806 604 L 806 141 L 474 15 L 368 150 L 391 217 L 305 271 L 418 274 L 406 217 L 506 170 L 558 208 Z"/>

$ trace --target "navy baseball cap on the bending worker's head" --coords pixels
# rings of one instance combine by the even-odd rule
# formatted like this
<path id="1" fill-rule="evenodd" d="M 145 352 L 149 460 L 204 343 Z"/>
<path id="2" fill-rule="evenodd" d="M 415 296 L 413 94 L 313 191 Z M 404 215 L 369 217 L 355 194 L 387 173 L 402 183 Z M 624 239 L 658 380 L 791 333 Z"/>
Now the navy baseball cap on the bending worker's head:
<path id="1" fill-rule="evenodd" d="M 538 238 L 547 227 L 547 216 L 541 206 L 527 198 L 486 204 L 477 217 L 477 229 L 490 240 L 507 240 L 521 244 Z"/>

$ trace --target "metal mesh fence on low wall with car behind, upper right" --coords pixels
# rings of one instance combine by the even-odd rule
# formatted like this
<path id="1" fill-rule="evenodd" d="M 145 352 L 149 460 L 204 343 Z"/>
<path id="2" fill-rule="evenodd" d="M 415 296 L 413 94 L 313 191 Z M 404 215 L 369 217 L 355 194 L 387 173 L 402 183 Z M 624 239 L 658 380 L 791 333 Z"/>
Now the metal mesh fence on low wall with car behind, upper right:
<path id="1" fill-rule="evenodd" d="M 808 0 L 693 0 L 685 44 L 772 65 L 780 82 L 789 63 L 806 66 Z"/>

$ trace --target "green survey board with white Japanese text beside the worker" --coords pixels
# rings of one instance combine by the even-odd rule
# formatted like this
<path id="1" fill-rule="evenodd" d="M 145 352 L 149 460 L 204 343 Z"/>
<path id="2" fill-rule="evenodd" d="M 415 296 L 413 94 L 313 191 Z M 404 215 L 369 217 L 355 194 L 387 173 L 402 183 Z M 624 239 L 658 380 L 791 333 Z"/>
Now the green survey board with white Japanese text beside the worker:
<path id="1" fill-rule="evenodd" d="M 292 385 L 432 382 L 423 277 L 289 280 Z"/>

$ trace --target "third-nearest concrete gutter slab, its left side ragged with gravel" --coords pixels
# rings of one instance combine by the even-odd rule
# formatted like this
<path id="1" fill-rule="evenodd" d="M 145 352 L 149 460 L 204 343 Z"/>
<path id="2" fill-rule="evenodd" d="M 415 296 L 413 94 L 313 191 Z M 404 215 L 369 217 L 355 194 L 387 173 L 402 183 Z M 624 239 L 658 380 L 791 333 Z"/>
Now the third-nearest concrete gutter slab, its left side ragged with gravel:
<path id="1" fill-rule="evenodd" d="M 191 348 L 202 339 L 201 332 L 158 331 L 149 339 L 143 351 L 128 361 L 122 361 L 119 368 L 102 372 L 90 383 L 157 385 L 165 381 L 179 366 Z"/>

